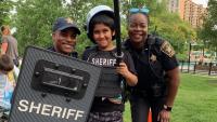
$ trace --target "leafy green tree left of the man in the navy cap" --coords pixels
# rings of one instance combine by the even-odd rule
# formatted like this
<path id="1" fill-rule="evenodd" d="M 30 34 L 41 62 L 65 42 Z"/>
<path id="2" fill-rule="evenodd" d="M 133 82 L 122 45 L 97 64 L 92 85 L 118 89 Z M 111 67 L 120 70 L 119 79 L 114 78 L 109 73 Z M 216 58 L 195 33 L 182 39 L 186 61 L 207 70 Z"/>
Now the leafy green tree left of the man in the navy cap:
<path id="1" fill-rule="evenodd" d="M 60 16 L 67 16 L 62 0 L 18 0 L 15 15 L 18 51 L 27 45 L 48 48 L 52 44 L 52 25 Z"/>

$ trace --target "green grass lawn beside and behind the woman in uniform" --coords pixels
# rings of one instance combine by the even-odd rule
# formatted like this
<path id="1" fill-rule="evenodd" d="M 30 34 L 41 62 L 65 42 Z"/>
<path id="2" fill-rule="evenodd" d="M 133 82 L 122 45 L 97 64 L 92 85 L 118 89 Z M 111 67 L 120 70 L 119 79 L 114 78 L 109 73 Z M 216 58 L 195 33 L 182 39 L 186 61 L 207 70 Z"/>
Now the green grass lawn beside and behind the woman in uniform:
<path id="1" fill-rule="evenodd" d="M 126 104 L 124 122 L 131 122 Z M 217 122 L 217 78 L 181 74 L 170 122 Z"/>

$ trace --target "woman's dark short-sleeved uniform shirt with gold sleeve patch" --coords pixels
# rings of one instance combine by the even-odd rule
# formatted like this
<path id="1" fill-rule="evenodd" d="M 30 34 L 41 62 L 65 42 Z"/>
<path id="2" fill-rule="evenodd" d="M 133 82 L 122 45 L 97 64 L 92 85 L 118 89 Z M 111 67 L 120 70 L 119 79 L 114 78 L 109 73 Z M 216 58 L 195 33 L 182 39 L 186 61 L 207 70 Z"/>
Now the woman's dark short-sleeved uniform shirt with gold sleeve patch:
<path id="1" fill-rule="evenodd" d="M 138 73 L 138 84 L 132 87 L 137 91 L 151 91 L 153 85 L 164 82 L 165 71 L 178 67 L 175 52 L 167 41 L 157 39 L 151 46 L 145 43 L 137 50 L 130 40 L 126 40 L 124 46 L 131 54 Z"/>

